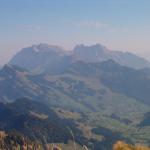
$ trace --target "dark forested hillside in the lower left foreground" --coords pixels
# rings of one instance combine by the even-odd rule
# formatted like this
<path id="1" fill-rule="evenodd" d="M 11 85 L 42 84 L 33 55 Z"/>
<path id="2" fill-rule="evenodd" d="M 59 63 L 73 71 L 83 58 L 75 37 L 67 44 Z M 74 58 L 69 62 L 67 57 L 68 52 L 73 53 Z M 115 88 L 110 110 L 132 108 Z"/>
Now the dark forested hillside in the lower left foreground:
<path id="1" fill-rule="evenodd" d="M 82 119 L 82 114 L 80 116 Z M 62 118 L 54 110 L 39 102 L 21 98 L 13 103 L 0 104 L 0 130 L 15 133 L 5 135 L 0 132 L 1 137 L 6 136 L 5 140 L 8 143 L 1 140 L 0 142 L 7 144 L 7 146 L 12 144 L 13 147 L 27 146 L 25 143 L 31 146 L 41 145 L 42 147 L 56 143 L 67 147 L 72 141 L 76 145 L 86 145 L 89 149 L 94 147 L 94 150 L 103 150 L 111 148 L 117 140 L 128 141 L 121 134 L 113 133 L 108 129 L 102 129 L 101 135 L 105 138 L 101 140 L 96 137 L 85 136 L 78 125 L 79 122 L 73 118 Z M 105 134 L 106 130 L 110 133 L 109 137 Z M 9 141 L 14 142 L 9 143 Z"/>

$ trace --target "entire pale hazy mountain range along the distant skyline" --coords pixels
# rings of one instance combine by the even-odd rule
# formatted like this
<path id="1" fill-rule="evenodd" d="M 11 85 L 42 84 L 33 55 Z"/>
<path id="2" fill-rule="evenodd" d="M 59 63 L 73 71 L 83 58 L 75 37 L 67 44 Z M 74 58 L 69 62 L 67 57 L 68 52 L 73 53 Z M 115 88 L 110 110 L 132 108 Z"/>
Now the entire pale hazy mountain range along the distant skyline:
<path id="1" fill-rule="evenodd" d="M 144 58 L 129 52 L 112 51 L 101 44 L 92 46 L 77 45 L 70 51 L 66 51 L 59 46 L 49 46 L 47 44 L 33 45 L 23 48 L 9 63 L 36 72 L 43 72 L 48 67 L 53 73 L 60 72 L 65 67 L 68 67 L 70 62 L 97 63 L 109 59 L 123 66 L 136 69 L 150 67 L 150 63 Z"/>

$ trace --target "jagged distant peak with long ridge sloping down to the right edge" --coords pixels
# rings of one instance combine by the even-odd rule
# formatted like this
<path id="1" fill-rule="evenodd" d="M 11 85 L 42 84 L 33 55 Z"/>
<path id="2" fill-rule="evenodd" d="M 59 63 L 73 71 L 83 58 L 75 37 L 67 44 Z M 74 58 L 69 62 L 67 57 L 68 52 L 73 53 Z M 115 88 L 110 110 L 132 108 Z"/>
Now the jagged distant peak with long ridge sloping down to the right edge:
<path id="1" fill-rule="evenodd" d="M 129 52 L 112 51 L 101 44 L 92 46 L 78 45 L 73 50 L 73 57 L 85 62 L 102 62 L 113 60 L 124 66 L 133 68 L 150 67 L 150 63 L 144 58 Z"/>

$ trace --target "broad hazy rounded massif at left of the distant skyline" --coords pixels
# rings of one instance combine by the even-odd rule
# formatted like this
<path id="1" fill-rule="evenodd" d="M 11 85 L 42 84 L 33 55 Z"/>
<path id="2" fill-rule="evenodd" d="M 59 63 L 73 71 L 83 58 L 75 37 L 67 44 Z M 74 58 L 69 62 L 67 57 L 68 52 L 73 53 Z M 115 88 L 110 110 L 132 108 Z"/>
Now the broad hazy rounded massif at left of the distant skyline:
<path id="1" fill-rule="evenodd" d="M 38 73 L 49 67 L 51 68 L 50 72 L 55 73 L 60 72 L 65 65 L 68 65 L 68 61 L 67 53 L 61 47 L 39 44 L 23 48 L 13 57 L 10 64 Z"/>

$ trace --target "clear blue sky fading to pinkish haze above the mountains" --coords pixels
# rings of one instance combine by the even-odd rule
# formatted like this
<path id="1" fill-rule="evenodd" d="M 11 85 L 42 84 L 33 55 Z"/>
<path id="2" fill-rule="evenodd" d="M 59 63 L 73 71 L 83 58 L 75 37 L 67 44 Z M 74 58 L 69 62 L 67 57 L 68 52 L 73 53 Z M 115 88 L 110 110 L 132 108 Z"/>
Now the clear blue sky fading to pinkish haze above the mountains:
<path id="1" fill-rule="evenodd" d="M 101 43 L 150 60 L 149 41 L 149 0 L 0 0 L 0 64 L 38 43 Z"/>

